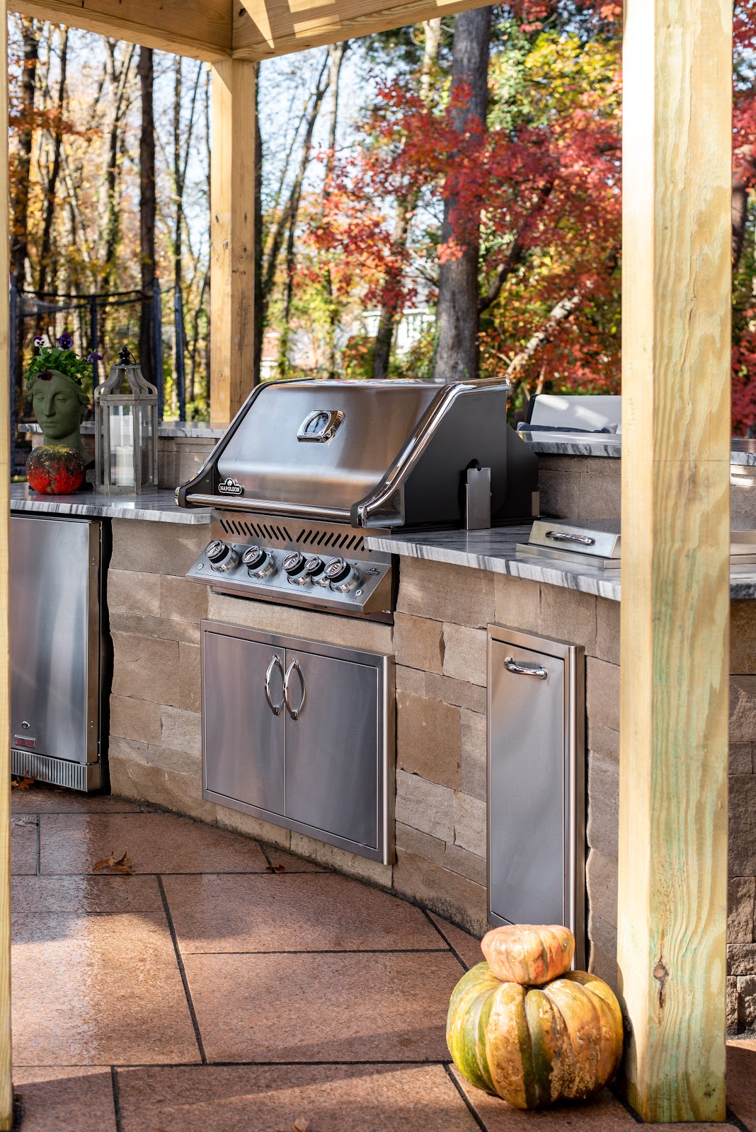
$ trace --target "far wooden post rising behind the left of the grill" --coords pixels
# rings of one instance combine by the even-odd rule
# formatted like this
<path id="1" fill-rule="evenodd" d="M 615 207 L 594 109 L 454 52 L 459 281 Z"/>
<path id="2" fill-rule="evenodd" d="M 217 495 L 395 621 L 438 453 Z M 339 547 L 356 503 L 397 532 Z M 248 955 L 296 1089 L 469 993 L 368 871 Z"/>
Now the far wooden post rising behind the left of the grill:
<path id="1" fill-rule="evenodd" d="M 213 66 L 211 422 L 227 424 L 252 388 L 255 63 Z"/>

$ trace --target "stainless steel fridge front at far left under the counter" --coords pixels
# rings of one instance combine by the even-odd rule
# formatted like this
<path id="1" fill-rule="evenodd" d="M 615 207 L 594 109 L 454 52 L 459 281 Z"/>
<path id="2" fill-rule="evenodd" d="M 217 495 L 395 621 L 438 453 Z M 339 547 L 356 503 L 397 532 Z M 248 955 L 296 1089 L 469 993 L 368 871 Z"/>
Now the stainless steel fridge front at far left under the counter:
<path id="1" fill-rule="evenodd" d="M 37 756 L 98 758 L 98 572 L 97 521 L 11 516 L 10 743 L 45 780 Z"/>

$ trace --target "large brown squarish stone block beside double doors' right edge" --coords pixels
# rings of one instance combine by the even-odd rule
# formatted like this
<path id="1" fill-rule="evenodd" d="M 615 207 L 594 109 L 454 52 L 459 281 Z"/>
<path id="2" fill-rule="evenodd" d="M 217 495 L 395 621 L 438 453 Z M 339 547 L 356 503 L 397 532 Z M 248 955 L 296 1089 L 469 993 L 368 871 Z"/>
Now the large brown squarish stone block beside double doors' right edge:
<path id="1" fill-rule="evenodd" d="M 458 707 L 396 693 L 396 765 L 430 782 L 462 786 L 462 719 Z M 414 822 L 410 822 L 411 825 Z M 421 826 L 418 826 L 419 829 Z"/>

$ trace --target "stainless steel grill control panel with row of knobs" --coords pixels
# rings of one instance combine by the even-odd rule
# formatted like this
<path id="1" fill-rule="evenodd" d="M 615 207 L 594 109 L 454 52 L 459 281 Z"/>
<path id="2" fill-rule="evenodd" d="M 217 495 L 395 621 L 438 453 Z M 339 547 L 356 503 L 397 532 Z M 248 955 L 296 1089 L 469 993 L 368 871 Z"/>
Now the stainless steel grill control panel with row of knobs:
<path id="1" fill-rule="evenodd" d="M 224 593 L 390 619 L 390 556 L 351 559 L 213 539 L 187 577 Z"/>

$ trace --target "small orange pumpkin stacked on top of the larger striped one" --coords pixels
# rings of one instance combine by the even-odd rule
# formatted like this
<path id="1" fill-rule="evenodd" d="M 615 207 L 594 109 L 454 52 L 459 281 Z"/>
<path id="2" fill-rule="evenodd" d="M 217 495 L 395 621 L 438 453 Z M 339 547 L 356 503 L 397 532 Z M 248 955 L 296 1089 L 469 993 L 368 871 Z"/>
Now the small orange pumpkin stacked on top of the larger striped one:
<path id="1" fill-rule="evenodd" d="M 480 946 L 497 979 L 540 987 L 569 970 L 575 936 L 560 924 L 507 924 L 488 932 Z"/>

